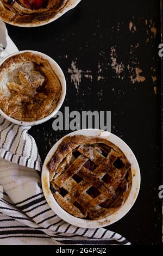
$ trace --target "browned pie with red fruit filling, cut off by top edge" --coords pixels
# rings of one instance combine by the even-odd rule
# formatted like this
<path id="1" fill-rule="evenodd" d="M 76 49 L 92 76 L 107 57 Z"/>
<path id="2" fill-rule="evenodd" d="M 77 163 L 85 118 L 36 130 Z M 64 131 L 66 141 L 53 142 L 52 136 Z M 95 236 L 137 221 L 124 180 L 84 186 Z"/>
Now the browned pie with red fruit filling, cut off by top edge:
<path id="1" fill-rule="evenodd" d="M 70 0 L 0 0 L 0 18 L 16 25 L 40 25 L 64 10 Z"/>

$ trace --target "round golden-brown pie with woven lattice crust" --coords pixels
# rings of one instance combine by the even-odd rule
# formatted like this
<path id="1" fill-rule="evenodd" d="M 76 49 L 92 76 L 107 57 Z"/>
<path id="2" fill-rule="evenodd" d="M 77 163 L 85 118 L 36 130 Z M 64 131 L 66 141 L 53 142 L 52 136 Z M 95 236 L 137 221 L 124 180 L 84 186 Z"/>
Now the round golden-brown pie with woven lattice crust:
<path id="1" fill-rule="evenodd" d="M 107 217 L 121 208 L 130 192 L 131 164 L 101 137 L 66 137 L 47 167 L 54 198 L 78 218 Z"/>

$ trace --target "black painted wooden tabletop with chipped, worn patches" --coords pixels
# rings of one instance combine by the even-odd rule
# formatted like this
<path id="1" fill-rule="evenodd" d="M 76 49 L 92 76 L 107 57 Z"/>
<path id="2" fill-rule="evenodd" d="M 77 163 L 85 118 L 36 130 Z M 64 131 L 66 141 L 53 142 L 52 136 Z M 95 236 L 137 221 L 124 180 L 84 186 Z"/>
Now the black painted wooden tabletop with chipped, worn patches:
<path id="1" fill-rule="evenodd" d="M 112 133 L 140 164 L 141 189 L 133 208 L 108 229 L 133 244 L 161 243 L 160 1 L 83 0 L 47 26 L 7 27 L 19 50 L 44 52 L 61 66 L 67 81 L 61 111 L 111 111 Z M 42 161 L 68 133 L 53 131 L 52 122 L 30 130 Z"/>

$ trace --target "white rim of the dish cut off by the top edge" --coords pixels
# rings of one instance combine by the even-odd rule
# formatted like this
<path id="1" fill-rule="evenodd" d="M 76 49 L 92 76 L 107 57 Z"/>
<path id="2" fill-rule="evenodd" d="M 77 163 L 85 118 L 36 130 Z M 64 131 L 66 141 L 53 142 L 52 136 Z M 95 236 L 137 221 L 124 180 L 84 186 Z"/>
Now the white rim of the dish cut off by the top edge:
<path id="1" fill-rule="evenodd" d="M 55 20 L 57 20 L 59 17 L 61 17 L 62 15 L 64 15 L 65 13 L 67 13 L 67 11 L 75 8 L 78 3 L 80 2 L 81 0 L 70 0 L 70 3 L 67 5 L 67 7 L 65 7 L 65 9 L 63 9 L 62 11 L 60 11 L 60 13 L 58 13 L 57 15 L 55 15 L 52 19 L 50 19 L 49 21 L 42 21 L 40 22 L 39 24 L 32 24 L 32 23 L 26 23 L 26 24 L 17 24 L 17 23 L 14 23 L 14 22 L 9 22 L 9 21 L 5 21 L 6 23 L 10 24 L 10 25 L 14 25 L 16 27 L 28 27 L 28 28 L 32 28 L 32 27 L 40 27 L 40 26 L 44 26 L 44 25 L 47 25 Z M 1 18 L 2 19 L 2 18 Z"/>

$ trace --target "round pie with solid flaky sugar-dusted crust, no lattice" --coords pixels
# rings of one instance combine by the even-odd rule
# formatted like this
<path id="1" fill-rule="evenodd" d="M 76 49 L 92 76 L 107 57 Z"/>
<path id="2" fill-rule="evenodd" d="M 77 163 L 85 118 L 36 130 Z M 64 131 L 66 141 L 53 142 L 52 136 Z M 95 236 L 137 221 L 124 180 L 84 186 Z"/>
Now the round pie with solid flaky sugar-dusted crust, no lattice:
<path id="1" fill-rule="evenodd" d="M 21 121 L 35 121 L 57 107 L 61 83 L 48 60 L 24 52 L 0 66 L 0 108 Z"/>

